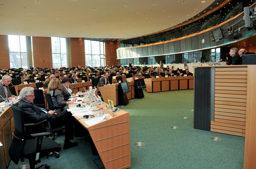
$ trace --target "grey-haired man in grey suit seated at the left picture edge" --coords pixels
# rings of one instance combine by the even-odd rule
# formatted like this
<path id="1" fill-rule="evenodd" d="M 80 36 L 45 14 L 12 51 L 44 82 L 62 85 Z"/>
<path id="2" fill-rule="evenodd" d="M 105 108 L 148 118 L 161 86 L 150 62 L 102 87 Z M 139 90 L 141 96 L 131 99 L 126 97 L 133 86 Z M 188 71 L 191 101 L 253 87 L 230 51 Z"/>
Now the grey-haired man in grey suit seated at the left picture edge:
<path id="1" fill-rule="evenodd" d="M 0 95 L 7 100 L 12 100 L 12 98 L 17 98 L 17 96 L 12 95 L 11 91 L 9 90 L 8 85 L 11 83 L 12 78 L 9 75 L 4 75 L 2 77 L 2 82 L 0 84 Z M 2 97 L 0 97 L 0 102 L 5 101 Z"/>

